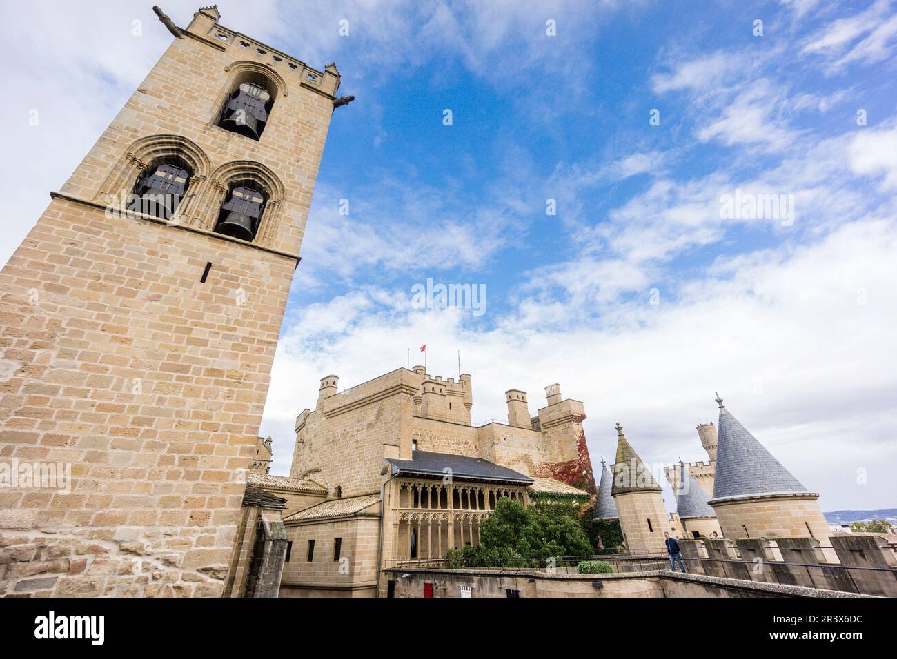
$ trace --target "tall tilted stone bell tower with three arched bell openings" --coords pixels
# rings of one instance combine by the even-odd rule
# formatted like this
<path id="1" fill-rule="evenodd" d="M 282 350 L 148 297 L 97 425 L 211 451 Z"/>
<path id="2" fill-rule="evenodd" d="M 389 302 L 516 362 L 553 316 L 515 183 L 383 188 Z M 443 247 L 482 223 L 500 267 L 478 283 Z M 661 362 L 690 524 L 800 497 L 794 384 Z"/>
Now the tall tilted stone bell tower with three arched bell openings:
<path id="1" fill-rule="evenodd" d="M 0 272 L 0 463 L 57 476 L 0 490 L 0 594 L 216 596 L 227 577 L 327 129 L 351 97 L 335 65 L 216 7 L 186 28 L 154 11 L 170 47 Z"/>

